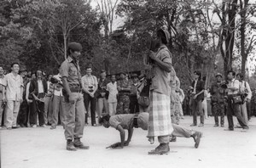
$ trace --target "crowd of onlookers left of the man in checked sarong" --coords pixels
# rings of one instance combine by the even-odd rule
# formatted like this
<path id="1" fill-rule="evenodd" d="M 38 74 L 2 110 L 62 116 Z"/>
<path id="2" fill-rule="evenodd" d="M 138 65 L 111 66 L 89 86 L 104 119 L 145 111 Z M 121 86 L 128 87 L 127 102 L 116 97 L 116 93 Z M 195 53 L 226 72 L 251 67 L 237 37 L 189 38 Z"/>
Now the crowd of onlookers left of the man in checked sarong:
<path id="1" fill-rule="evenodd" d="M 128 79 L 125 72 L 107 76 L 102 70 L 99 78 L 91 73 L 92 69 L 88 67 L 80 78 L 86 124 L 90 117 L 90 124 L 97 126 L 96 119 L 103 112 L 109 115 L 137 113 L 148 107 L 147 104 L 138 104 L 137 87 L 140 82 L 137 74 Z M 55 129 L 58 124 L 65 126 L 65 92 L 60 74 L 47 76 L 42 70 L 32 73 L 14 63 L 9 73 L 0 67 L 0 87 L 2 129 L 47 125 Z"/>

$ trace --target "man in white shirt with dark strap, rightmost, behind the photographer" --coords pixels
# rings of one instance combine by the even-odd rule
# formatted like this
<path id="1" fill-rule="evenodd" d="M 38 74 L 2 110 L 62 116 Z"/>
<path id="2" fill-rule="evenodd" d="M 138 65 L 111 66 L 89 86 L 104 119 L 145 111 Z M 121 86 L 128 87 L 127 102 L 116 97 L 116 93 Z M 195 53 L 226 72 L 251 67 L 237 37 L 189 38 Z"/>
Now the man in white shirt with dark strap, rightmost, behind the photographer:
<path id="1" fill-rule="evenodd" d="M 252 91 L 251 91 L 251 88 L 250 88 L 249 84 L 247 83 L 247 81 L 243 80 L 243 75 L 241 73 L 238 73 L 236 75 L 236 79 L 238 81 L 240 81 L 240 92 L 241 92 L 241 95 L 244 97 L 243 102 L 241 104 L 241 115 L 248 125 L 247 110 L 250 111 L 250 108 L 248 107 L 248 109 L 247 109 L 247 104 L 250 104 L 250 102 L 251 102 Z"/>

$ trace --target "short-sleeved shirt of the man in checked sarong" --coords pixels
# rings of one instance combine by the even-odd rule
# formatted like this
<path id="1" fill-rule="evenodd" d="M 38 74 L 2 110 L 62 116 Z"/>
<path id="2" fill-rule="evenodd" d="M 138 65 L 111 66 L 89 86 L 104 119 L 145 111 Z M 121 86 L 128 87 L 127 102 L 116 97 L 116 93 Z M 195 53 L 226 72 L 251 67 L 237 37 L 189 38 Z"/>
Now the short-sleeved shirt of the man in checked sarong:
<path id="1" fill-rule="evenodd" d="M 172 55 L 166 46 L 161 46 L 159 48 L 158 52 L 156 53 L 156 58 L 165 63 L 172 64 Z M 152 76 L 153 78 L 150 90 L 170 96 L 171 87 L 169 82 L 171 81 L 171 73 L 162 70 L 158 64 L 154 64 Z"/>

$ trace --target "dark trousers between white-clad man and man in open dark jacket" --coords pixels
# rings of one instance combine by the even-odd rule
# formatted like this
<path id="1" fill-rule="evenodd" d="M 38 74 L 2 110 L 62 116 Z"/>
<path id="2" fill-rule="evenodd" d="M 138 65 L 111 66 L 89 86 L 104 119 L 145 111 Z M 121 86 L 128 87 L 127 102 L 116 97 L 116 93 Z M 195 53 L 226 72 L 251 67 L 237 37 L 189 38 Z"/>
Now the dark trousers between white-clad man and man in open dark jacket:
<path id="1" fill-rule="evenodd" d="M 28 104 L 26 100 L 23 100 L 22 104 L 20 104 L 20 111 L 17 118 L 17 123 L 19 125 L 26 126 L 27 120 L 28 120 L 28 112 L 29 112 Z"/>

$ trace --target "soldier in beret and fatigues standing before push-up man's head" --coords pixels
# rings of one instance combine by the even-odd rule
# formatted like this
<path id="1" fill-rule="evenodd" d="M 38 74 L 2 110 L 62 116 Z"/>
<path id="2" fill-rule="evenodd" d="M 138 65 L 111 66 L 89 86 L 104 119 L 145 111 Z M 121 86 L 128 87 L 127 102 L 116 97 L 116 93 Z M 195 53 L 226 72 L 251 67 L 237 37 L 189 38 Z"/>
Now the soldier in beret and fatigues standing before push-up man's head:
<path id="1" fill-rule="evenodd" d="M 76 148 L 88 149 L 80 141 L 84 132 L 84 98 L 81 88 L 81 74 L 79 56 L 82 50 L 80 43 L 71 42 L 67 47 L 67 59 L 61 64 L 60 75 L 63 82 L 63 96 L 65 98 L 65 137 L 67 150 Z"/>

